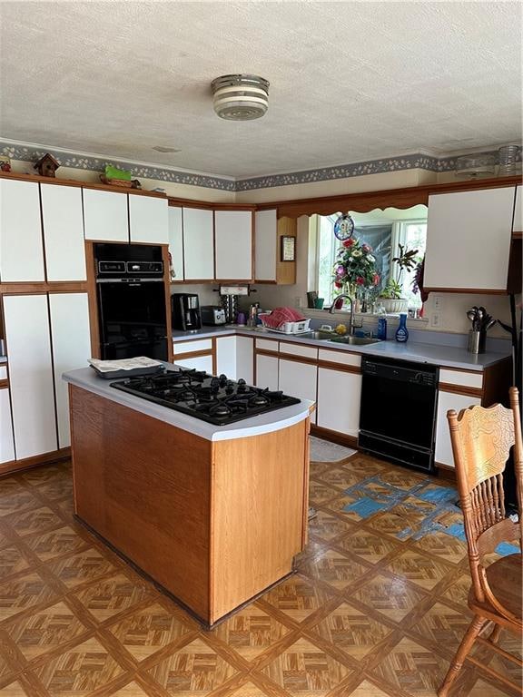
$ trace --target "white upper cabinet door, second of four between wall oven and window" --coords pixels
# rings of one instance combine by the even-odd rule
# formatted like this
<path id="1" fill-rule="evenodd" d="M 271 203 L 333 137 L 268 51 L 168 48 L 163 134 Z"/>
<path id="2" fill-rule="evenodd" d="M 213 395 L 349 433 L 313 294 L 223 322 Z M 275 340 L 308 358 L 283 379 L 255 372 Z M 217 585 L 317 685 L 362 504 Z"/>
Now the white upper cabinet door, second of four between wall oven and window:
<path id="1" fill-rule="evenodd" d="M 183 266 L 185 280 L 214 278 L 212 211 L 183 209 Z"/>

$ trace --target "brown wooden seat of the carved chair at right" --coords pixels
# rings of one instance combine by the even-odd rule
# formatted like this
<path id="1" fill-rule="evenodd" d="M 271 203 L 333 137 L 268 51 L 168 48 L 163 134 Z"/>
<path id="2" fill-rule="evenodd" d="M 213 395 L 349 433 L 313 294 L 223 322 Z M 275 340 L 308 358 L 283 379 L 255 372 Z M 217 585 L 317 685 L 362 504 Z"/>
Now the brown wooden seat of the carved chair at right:
<path id="1" fill-rule="evenodd" d="M 486 573 L 488 585 L 498 603 L 521 620 L 523 556 L 502 556 L 486 568 Z M 473 587 L 470 589 L 469 606 L 472 609 L 474 606 L 488 609 L 497 614 L 488 602 L 479 603 L 476 600 Z"/>

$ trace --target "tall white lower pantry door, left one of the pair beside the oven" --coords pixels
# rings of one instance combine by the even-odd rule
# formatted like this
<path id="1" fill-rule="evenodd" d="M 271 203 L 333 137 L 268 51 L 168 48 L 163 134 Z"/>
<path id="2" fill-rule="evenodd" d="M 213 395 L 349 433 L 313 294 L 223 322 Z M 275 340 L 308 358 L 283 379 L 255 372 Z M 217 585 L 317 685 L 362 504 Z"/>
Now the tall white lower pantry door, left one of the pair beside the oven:
<path id="1" fill-rule="evenodd" d="M 16 459 L 22 460 L 57 449 L 47 296 L 4 296 L 4 321 Z"/>

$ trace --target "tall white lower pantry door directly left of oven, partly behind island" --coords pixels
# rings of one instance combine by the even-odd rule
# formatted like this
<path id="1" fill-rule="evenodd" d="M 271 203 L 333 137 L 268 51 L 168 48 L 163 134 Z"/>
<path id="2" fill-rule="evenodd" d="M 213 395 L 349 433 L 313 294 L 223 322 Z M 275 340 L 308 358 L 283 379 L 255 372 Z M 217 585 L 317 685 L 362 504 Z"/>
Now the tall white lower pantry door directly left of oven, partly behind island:
<path id="1" fill-rule="evenodd" d="M 58 447 L 71 444 L 69 432 L 69 395 L 62 374 L 85 368 L 91 358 L 89 305 L 87 293 L 49 295 L 51 337 L 54 358 L 54 397 L 58 419 Z M 71 328 L 74 327 L 74 331 Z"/>

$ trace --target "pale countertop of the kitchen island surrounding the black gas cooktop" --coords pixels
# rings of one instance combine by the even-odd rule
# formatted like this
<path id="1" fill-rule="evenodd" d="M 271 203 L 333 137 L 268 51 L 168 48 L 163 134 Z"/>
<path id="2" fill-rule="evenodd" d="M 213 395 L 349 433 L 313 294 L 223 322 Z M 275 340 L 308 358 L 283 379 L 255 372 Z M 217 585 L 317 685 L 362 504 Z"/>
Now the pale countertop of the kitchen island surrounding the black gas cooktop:
<path id="1" fill-rule="evenodd" d="M 176 370 L 173 365 L 165 363 L 168 370 Z M 180 411 L 175 411 L 162 405 L 154 404 L 147 399 L 135 397 L 119 389 L 111 387 L 114 380 L 99 378 L 93 368 L 80 368 L 64 373 L 62 378 L 78 388 L 84 388 L 95 395 L 109 399 L 112 402 L 129 407 L 141 414 L 157 418 L 166 424 L 172 424 L 183 431 L 188 431 L 195 436 L 206 440 L 232 440 L 232 438 L 245 438 L 250 436 L 262 436 L 264 433 L 279 431 L 282 428 L 294 426 L 309 416 L 309 410 L 314 402 L 302 399 L 300 404 L 291 407 L 283 407 L 275 411 L 260 414 L 257 417 L 244 418 L 227 426 L 214 426 L 202 421 L 200 418 L 190 417 Z"/>

